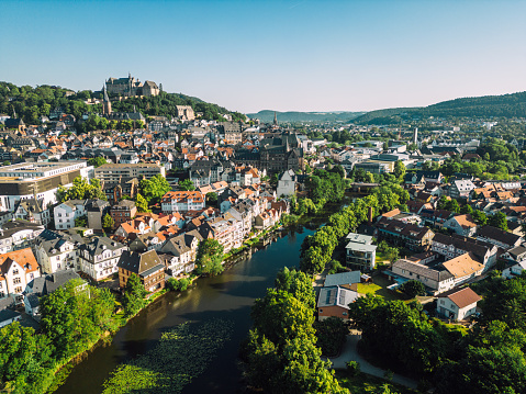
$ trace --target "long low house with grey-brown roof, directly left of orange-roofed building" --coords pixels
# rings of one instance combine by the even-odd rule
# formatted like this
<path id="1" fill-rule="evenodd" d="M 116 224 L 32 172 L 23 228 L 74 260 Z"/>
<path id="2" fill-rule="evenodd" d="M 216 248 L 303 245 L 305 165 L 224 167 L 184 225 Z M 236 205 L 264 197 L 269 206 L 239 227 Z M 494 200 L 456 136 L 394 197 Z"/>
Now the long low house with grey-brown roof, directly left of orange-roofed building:
<path id="1" fill-rule="evenodd" d="M 432 294 L 443 293 L 455 286 L 455 277 L 447 270 L 435 270 L 433 268 L 400 259 L 392 266 L 391 271 L 385 271 L 391 278 L 416 280 L 423 283 Z"/>

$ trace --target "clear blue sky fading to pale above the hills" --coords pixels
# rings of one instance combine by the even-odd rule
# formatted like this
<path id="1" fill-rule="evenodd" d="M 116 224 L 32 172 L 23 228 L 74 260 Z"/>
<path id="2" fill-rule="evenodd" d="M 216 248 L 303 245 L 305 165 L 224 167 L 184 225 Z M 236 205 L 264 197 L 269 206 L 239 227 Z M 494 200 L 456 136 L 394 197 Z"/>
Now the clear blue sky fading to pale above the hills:
<path id="1" fill-rule="evenodd" d="M 132 72 L 230 110 L 360 111 L 526 90 L 526 1 L 0 1 L 0 80 Z"/>

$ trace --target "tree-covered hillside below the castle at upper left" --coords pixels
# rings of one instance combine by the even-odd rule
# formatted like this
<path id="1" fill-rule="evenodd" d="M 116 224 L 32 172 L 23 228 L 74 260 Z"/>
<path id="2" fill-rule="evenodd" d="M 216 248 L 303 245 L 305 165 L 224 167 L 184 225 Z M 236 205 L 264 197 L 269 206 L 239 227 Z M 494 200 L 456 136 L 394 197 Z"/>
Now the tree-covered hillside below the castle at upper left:
<path id="1" fill-rule="evenodd" d="M 48 116 L 49 112 L 63 106 L 65 112 L 72 114 L 77 120 L 83 113 L 101 113 L 102 104 L 88 105 L 91 98 L 101 99 L 100 92 L 82 90 L 75 92 L 55 86 L 18 87 L 9 82 L 0 82 L 0 113 L 23 119 L 25 124 L 40 124 L 41 116 Z M 147 117 L 148 115 L 175 116 L 176 105 L 191 105 L 194 112 L 203 114 L 203 119 L 222 121 L 222 114 L 232 114 L 233 120 L 244 119 L 237 112 L 231 112 L 220 105 L 206 103 L 200 99 L 181 93 L 161 92 L 157 97 L 130 98 L 123 101 L 112 101 L 115 112 L 132 112 L 133 108 Z"/>

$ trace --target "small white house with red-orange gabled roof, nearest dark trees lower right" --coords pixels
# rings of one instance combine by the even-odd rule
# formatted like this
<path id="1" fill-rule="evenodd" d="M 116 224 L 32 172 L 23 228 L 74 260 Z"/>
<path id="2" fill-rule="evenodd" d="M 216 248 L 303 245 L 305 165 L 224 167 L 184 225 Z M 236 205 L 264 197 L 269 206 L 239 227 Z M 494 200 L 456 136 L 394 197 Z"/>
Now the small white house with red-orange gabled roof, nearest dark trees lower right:
<path id="1" fill-rule="evenodd" d="M 480 300 L 470 288 L 452 289 L 438 295 L 437 314 L 451 320 L 463 320 L 477 312 Z"/>

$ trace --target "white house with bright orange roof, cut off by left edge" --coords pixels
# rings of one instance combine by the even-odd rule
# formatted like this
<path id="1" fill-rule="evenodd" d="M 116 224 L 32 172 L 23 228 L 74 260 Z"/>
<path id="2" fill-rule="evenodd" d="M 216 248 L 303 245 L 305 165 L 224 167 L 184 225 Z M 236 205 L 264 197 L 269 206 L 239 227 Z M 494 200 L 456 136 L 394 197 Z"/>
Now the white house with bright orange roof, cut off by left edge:
<path id="1" fill-rule="evenodd" d="M 16 304 L 22 303 L 25 286 L 40 275 L 31 248 L 0 255 L 0 297 L 10 295 Z"/>

